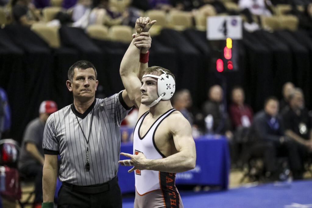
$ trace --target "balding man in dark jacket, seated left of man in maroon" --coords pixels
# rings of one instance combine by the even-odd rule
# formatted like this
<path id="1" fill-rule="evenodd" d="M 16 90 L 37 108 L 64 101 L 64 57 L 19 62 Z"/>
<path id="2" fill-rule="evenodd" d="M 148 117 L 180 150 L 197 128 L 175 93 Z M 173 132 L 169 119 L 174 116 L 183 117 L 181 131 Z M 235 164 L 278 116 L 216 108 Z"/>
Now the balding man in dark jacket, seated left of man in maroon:
<path id="1" fill-rule="evenodd" d="M 215 133 L 225 134 L 228 139 L 232 139 L 231 121 L 222 103 L 223 90 L 220 85 L 213 85 L 209 89 L 208 97 L 209 100 L 202 107 L 204 117 L 211 114 L 213 118 L 213 131 Z"/>

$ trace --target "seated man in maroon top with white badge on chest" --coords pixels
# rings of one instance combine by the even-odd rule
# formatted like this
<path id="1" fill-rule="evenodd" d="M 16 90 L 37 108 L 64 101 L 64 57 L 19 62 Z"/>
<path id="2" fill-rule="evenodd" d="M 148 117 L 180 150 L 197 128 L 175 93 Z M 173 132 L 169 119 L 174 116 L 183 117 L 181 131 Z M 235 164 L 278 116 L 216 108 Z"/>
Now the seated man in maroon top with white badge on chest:
<path id="1" fill-rule="evenodd" d="M 234 128 L 250 127 L 252 121 L 252 109 L 244 104 L 245 93 L 241 87 L 232 89 L 232 104 L 230 105 L 229 113 L 232 119 Z"/>

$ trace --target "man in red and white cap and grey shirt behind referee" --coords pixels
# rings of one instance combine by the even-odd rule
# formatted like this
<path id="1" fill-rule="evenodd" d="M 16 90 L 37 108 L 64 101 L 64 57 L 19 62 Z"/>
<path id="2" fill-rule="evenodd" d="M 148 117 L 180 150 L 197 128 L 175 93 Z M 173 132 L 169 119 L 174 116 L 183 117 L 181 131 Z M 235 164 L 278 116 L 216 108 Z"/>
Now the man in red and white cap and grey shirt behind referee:
<path id="1" fill-rule="evenodd" d="M 25 177 L 35 177 L 35 200 L 33 207 L 41 207 L 42 203 L 43 131 L 46 120 L 50 114 L 57 110 L 57 105 L 54 101 L 43 101 L 40 104 L 39 117 L 28 123 L 22 140 L 18 169 Z"/>

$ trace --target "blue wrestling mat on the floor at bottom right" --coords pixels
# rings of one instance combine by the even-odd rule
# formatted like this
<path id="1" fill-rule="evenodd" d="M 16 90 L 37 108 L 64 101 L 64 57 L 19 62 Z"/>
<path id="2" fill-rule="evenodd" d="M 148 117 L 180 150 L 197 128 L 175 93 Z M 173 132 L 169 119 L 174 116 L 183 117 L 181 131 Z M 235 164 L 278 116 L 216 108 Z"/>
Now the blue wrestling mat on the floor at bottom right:
<path id="1" fill-rule="evenodd" d="M 185 208 L 312 208 L 312 180 L 291 183 L 247 185 L 227 191 L 180 191 Z M 123 208 L 133 208 L 134 197 L 123 199 Z"/>

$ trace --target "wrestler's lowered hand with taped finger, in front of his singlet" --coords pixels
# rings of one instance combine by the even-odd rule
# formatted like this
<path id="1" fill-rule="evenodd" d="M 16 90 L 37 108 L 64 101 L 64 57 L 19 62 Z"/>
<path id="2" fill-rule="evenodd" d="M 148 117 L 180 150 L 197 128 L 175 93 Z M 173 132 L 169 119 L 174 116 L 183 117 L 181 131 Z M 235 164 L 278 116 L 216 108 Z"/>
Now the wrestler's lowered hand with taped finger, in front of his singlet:
<path id="1" fill-rule="evenodd" d="M 133 172 L 136 169 L 139 170 L 146 170 L 147 169 L 147 164 L 148 164 L 148 159 L 145 157 L 145 155 L 142 152 L 139 152 L 137 155 L 131 155 L 128 153 L 121 152 L 120 155 L 130 157 L 128 160 L 119 160 L 118 163 L 122 166 L 134 166 L 131 168 L 128 172 Z"/>

